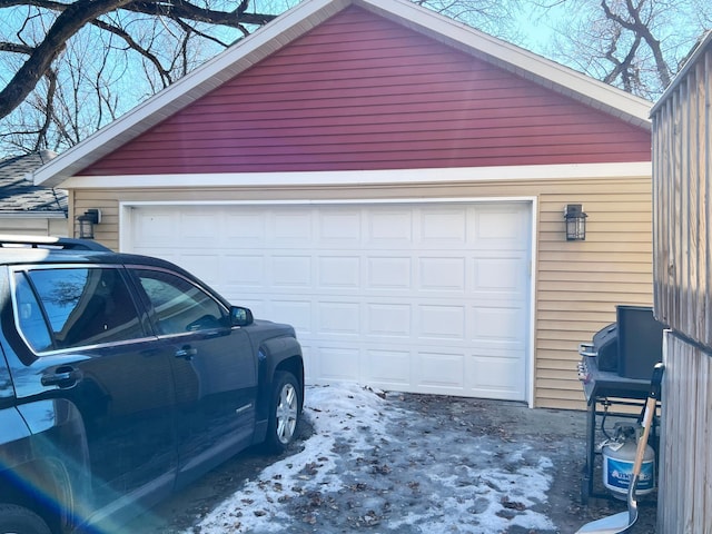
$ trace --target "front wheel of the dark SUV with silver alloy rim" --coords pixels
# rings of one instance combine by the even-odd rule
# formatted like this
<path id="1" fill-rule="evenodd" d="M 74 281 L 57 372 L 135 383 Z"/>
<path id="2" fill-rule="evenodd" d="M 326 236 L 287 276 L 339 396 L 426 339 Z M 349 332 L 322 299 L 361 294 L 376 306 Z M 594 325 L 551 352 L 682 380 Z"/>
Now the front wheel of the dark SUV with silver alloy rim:
<path id="1" fill-rule="evenodd" d="M 265 446 L 281 453 L 294 442 L 301 417 L 301 389 L 291 373 L 278 370 L 273 382 Z"/>

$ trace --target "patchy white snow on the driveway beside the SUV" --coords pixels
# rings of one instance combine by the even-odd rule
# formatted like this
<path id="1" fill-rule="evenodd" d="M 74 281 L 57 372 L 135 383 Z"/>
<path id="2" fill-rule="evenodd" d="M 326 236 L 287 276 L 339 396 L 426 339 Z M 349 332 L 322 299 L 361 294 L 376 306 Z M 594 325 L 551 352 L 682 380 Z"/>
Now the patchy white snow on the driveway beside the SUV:
<path id="1" fill-rule="evenodd" d="M 308 387 L 305 416 L 314 434 L 304 449 L 247 481 L 191 532 L 555 532 L 535 511 L 552 463 L 524 445 L 456 417 L 434 423 L 357 385 Z"/>

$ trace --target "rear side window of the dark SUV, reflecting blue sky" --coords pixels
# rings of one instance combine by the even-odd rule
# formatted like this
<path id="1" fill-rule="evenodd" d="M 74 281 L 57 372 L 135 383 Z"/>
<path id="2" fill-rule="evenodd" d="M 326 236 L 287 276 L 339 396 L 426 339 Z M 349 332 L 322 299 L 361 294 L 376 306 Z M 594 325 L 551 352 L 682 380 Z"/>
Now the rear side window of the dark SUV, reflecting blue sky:
<path id="1" fill-rule="evenodd" d="M 38 353 L 146 337 L 118 268 L 16 273 L 19 328 Z"/>

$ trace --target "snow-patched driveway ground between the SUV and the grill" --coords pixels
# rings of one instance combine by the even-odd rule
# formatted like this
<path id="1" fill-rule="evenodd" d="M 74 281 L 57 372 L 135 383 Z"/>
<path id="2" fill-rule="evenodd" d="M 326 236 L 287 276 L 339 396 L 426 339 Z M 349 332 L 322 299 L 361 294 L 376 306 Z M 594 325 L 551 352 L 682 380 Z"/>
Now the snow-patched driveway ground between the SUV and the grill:
<path id="1" fill-rule="evenodd" d="M 573 533 L 625 510 L 580 504 L 585 414 L 357 386 L 307 389 L 300 439 L 238 455 L 126 532 Z M 655 532 L 655 500 L 633 532 Z"/>

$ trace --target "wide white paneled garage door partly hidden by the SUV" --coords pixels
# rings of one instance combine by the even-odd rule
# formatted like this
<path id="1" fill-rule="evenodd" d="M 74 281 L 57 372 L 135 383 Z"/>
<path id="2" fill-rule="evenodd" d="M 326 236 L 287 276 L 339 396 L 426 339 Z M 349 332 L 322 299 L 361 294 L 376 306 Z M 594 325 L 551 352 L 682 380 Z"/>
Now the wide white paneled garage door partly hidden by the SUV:
<path id="1" fill-rule="evenodd" d="M 531 205 L 136 206 L 127 249 L 293 324 L 310 383 L 526 399 Z"/>

